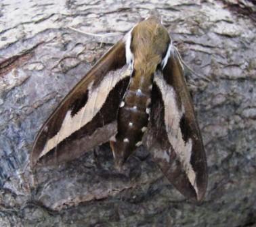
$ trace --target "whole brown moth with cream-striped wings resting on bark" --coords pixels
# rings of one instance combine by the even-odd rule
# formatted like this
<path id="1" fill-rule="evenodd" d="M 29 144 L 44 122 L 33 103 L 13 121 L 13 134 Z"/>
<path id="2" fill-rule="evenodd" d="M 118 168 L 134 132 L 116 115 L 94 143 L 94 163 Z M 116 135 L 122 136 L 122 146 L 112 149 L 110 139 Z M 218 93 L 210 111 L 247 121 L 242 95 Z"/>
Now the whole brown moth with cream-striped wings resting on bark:
<path id="1" fill-rule="evenodd" d="M 180 193 L 204 197 L 207 161 L 184 67 L 156 16 L 136 24 L 74 86 L 39 130 L 30 162 L 70 161 L 108 141 L 117 168 L 144 145 Z"/>

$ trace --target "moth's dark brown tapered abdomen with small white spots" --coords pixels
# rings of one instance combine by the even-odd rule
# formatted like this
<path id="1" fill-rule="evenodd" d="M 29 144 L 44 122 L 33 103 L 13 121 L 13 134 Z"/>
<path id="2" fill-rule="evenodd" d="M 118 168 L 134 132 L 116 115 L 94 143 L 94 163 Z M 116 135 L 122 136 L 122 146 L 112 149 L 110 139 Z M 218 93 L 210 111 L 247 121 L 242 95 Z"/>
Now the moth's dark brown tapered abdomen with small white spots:
<path id="1" fill-rule="evenodd" d="M 129 89 L 118 111 L 116 141 L 111 141 L 116 166 L 122 166 L 125 160 L 142 145 L 142 136 L 148 126 L 151 101 L 151 80 L 140 83 L 131 78 Z M 141 78 L 146 80 L 146 78 Z M 148 86 L 145 87 L 145 84 Z M 143 85 L 143 86 L 142 86 Z"/>

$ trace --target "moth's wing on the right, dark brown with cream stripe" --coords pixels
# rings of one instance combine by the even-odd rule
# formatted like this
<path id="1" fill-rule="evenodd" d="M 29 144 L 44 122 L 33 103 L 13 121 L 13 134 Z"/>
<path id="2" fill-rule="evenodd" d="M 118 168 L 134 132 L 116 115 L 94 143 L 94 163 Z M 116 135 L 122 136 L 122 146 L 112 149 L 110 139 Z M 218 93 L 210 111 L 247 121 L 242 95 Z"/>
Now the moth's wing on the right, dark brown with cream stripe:
<path id="1" fill-rule="evenodd" d="M 207 188 L 207 162 L 179 53 L 172 50 L 154 76 L 152 112 L 144 145 L 183 195 L 200 201 Z"/>

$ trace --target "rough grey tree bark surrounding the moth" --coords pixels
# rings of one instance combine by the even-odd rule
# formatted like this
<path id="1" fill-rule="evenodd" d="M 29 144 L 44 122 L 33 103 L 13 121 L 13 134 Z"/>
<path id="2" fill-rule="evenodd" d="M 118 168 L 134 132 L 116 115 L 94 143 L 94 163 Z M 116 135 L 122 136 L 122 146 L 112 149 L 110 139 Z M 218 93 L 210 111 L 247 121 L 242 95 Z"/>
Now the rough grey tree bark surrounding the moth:
<path id="1" fill-rule="evenodd" d="M 207 197 L 186 201 L 145 149 L 113 168 L 108 145 L 30 170 L 37 131 L 112 41 L 149 9 L 184 61 L 207 152 Z M 0 3 L 0 226 L 255 226 L 256 28 L 253 1 Z"/>

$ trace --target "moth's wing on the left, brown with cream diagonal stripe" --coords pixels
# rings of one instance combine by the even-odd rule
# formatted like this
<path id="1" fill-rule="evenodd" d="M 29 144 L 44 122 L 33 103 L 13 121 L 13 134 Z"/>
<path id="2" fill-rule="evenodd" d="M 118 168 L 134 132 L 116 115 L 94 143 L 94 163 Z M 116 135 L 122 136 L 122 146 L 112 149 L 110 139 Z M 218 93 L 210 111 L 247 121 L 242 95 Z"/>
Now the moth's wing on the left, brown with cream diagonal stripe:
<path id="1" fill-rule="evenodd" d="M 125 43 L 119 41 L 45 122 L 33 145 L 32 166 L 69 161 L 109 141 L 116 134 L 116 114 L 129 76 Z"/>

